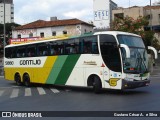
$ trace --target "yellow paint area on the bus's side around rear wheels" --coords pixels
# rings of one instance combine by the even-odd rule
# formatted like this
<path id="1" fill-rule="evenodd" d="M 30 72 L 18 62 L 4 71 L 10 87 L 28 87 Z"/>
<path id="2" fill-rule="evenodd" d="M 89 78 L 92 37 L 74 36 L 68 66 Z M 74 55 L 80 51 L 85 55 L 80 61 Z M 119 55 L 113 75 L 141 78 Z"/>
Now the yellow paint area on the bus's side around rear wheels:
<path id="1" fill-rule="evenodd" d="M 48 56 L 45 64 L 42 68 L 5 68 L 6 79 L 14 80 L 14 75 L 16 72 L 19 72 L 22 78 L 22 75 L 27 72 L 30 76 L 32 83 L 42 83 L 45 84 L 48 76 L 52 70 L 53 65 L 57 60 L 57 56 Z"/>

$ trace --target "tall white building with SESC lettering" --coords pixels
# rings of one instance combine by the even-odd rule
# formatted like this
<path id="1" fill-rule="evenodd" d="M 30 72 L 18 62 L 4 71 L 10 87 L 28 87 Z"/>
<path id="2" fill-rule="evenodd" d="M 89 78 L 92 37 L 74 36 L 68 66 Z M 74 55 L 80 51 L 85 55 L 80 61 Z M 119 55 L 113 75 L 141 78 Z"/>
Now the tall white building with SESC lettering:
<path id="1" fill-rule="evenodd" d="M 94 25 L 96 29 L 110 28 L 112 10 L 117 8 L 112 0 L 93 0 Z"/>

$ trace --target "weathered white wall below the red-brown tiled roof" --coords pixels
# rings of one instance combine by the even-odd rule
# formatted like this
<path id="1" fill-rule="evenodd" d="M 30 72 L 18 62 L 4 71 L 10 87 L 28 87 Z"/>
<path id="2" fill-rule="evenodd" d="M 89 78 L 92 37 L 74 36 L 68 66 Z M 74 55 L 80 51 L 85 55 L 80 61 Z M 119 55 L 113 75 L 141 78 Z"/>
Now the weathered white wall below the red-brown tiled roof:
<path id="1" fill-rule="evenodd" d="M 69 25 L 38 29 L 14 30 L 12 31 L 12 38 L 17 38 L 19 34 L 21 34 L 21 38 L 28 38 L 30 33 L 33 33 L 33 37 L 40 37 L 41 32 L 44 32 L 44 37 L 50 37 L 54 31 L 56 32 L 56 36 L 63 35 L 63 31 L 67 31 L 68 35 L 77 36 L 84 34 L 85 32 L 93 31 L 93 27 L 87 25 Z"/>

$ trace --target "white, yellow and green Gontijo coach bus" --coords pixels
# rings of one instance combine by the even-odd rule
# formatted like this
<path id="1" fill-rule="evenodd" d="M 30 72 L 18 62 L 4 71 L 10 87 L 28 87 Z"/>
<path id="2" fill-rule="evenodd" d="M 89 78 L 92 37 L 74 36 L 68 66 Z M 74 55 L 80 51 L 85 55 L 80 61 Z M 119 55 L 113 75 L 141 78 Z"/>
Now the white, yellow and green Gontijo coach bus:
<path id="1" fill-rule="evenodd" d="M 136 34 L 103 31 L 11 44 L 5 47 L 4 77 L 17 85 L 31 83 L 123 90 L 150 84 L 149 59 Z"/>

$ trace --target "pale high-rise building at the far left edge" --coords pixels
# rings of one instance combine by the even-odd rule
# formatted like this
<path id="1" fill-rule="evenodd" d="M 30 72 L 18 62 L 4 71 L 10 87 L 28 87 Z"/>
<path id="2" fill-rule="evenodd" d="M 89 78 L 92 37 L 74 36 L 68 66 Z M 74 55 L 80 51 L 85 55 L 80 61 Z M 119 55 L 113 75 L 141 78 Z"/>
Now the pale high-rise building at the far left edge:
<path id="1" fill-rule="evenodd" d="M 14 22 L 13 0 L 5 0 L 5 23 Z M 4 23 L 4 2 L 0 0 L 0 24 Z"/>

